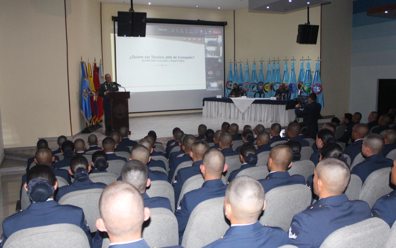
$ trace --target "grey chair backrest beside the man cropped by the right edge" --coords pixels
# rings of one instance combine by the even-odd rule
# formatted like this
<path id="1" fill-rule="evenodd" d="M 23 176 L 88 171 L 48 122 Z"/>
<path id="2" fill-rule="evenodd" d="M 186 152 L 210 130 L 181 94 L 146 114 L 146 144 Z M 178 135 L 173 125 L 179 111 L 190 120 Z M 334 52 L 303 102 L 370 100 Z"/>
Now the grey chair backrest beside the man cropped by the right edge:
<path id="1" fill-rule="evenodd" d="M 393 190 L 389 186 L 391 170 L 392 167 L 373 171 L 363 183 L 359 200 L 364 200 L 372 208 L 381 196 L 391 192 Z"/>

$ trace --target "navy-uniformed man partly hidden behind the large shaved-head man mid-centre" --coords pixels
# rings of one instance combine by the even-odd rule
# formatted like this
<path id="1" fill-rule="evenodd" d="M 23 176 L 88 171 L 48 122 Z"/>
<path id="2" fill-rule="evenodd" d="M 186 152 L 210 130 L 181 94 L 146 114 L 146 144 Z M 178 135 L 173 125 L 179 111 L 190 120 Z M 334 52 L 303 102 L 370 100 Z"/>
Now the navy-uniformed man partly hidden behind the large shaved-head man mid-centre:
<path id="1" fill-rule="evenodd" d="M 191 145 L 190 157 L 192 158 L 191 167 L 181 168 L 177 171 L 175 179 L 172 182 L 173 191 L 175 192 L 175 204 L 179 201 L 181 188 L 190 177 L 201 174 L 202 156 L 209 149 L 208 143 L 203 140 L 196 140 Z"/>

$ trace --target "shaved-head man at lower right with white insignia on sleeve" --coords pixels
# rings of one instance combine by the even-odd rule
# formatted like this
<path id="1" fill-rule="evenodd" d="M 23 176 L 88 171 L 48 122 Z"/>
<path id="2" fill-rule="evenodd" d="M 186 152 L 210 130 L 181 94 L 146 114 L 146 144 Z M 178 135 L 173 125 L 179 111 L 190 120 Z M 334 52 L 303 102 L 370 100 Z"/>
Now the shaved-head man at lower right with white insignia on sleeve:
<path id="1" fill-rule="evenodd" d="M 367 202 L 350 201 L 343 194 L 348 186 L 348 165 L 337 158 L 326 158 L 314 170 L 314 192 L 319 200 L 294 215 L 289 228 L 290 244 L 318 248 L 333 231 L 371 218 Z"/>

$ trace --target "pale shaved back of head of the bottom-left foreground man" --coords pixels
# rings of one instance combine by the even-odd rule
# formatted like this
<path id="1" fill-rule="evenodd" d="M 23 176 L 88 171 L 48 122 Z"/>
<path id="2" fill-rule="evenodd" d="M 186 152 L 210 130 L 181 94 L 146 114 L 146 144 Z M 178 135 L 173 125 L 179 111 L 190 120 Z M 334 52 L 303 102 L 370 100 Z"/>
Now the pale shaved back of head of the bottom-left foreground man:
<path id="1" fill-rule="evenodd" d="M 99 199 L 99 213 L 110 235 L 139 233 L 144 221 L 141 193 L 129 183 L 111 183 L 103 190 Z"/>

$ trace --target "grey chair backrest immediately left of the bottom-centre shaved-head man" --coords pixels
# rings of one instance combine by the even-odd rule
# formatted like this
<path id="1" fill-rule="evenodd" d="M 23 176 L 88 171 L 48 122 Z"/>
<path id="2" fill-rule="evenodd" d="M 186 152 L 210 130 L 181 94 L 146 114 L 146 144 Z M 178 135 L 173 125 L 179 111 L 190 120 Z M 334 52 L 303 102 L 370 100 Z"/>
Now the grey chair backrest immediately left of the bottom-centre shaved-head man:
<path id="1" fill-rule="evenodd" d="M 224 197 L 198 204 L 188 219 L 181 245 L 185 248 L 202 247 L 223 236 L 229 228 L 223 205 Z"/>

